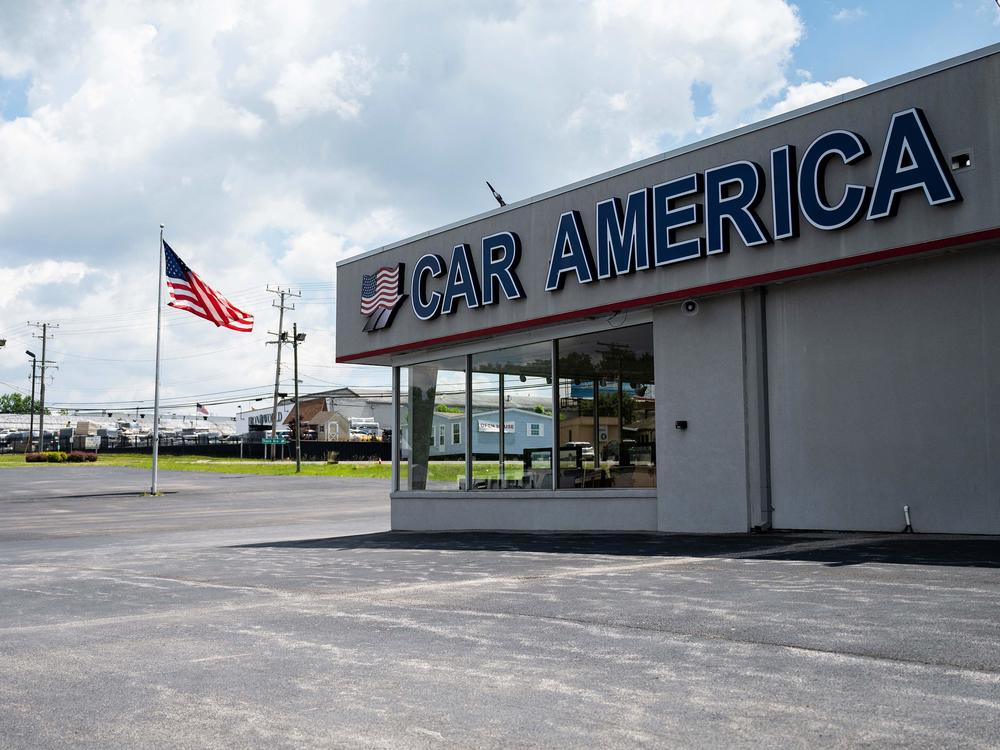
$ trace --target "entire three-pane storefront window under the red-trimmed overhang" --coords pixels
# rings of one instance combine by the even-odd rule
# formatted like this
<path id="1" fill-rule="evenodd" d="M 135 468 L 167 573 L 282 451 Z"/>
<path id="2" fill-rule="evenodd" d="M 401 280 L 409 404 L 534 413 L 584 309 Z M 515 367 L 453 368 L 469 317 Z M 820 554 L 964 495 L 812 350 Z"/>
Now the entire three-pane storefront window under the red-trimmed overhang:
<path id="1" fill-rule="evenodd" d="M 467 457 L 473 491 L 656 486 L 652 324 L 398 372 L 399 489 L 464 490 Z"/>

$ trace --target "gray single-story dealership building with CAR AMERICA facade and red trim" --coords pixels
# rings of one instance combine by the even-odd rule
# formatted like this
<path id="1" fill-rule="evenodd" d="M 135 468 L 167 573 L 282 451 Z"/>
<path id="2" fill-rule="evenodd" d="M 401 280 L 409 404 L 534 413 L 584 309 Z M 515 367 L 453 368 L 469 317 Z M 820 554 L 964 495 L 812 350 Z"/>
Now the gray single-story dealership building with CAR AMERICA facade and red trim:
<path id="1" fill-rule="evenodd" d="M 998 169 L 1000 45 L 340 262 L 393 528 L 1000 534 Z"/>

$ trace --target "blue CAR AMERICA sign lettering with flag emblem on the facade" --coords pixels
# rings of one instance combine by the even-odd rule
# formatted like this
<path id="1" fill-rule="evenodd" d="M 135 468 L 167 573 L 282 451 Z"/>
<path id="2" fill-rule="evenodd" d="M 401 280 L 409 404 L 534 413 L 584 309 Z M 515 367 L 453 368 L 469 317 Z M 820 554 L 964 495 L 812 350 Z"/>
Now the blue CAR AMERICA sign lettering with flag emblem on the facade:
<path id="1" fill-rule="evenodd" d="M 831 162 L 851 167 L 872 157 L 861 135 L 832 130 L 817 137 L 801 157 L 792 145 L 772 149 L 766 172 L 754 161 L 733 161 L 637 190 L 624 201 L 619 197 L 599 201 L 592 235 L 579 211 L 567 211 L 555 227 L 544 292 L 558 292 L 568 279 L 596 284 L 728 253 L 730 230 L 745 247 L 760 247 L 798 237 L 800 219 L 827 232 L 862 220 L 890 219 L 900 195 L 910 191 L 922 192 L 930 206 L 962 199 L 927 118 L 916 107 L 892 115 L 874 184 L 847 182 L 839 194 L 827 193 L 825 173 Z M 767 180 L 771 202 L 761 206 Z M 766 213 L 771 232 L 761 220 Z M 697 228 L 699 236 L 677 238 L 679 230 Z M 517 274 L 521 253 L 518 235 L 505 231 L 483 237 L 476 252 L 469 244 L 456 245 L 450 261 L 437 253 L 422 256 L 409 279 L 413 314 L 430 321 L 462 307 L 523 299 L 525 290 Z M 399 264 L 364 277 L 366 331 L 391 323 L 407 296 L 404 270 Z M 373 307 L 373 299 L 382 307 Z"/>

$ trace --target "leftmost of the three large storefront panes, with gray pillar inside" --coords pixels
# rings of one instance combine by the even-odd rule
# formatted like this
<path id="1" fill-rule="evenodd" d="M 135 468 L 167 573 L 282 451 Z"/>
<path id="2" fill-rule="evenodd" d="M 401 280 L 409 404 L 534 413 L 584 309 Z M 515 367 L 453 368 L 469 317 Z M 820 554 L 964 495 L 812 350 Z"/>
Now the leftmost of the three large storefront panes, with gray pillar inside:
<path id="1" fill-rule="evenodd" d="M 401 368 L 407 383 L 405 420 L 408 466 L 400 487 L 410 490 L 458 490 L 465 485 L 465 357 L 424 362 Z M 401 374 L 401 381 L 403 375 Z M 403 403 L 400 411 L 403 412 Z M 459 425 L 458 442 L 454 426 Z M 402 456 L 401 456 L 402 458 Z"/>

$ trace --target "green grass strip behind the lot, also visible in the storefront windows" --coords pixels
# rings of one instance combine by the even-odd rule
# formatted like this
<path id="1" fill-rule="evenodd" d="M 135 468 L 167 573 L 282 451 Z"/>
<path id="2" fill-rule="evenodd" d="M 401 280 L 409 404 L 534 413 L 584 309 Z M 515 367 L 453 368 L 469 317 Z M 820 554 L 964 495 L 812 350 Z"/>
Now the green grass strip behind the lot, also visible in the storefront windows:
<path id="1" fill-rule="evenodd" d="M 152 458 L 140 453 L 100 453 L 97 463 L 49 464 L 25 463 L 24 456 L 15 453 L 0 454 L 0 469 L 12 466 L 30 466 L 40 471 L 59 466 L 127 466 L 133 469 L 151 469 Z M 521 462 L 508 462 L 508 476 L 519 476 Z M 219 474 L 261 474 L 283 476 L 295 473 L 294 461 L 263 461 L 256 459 L 214 458 L 209 456 L 168 456 L 161 455 L 159 468 L 165 471 L 208 471 Z M 406 464 L 400 467 L 406 476 Z M 428 479 L 431 481 L 453 482 L 462 476 L 465 467 L 461 461 L 431 461 Z M 496 462 L 477 461 L 473 464 L 477 479 L 496 478 L 499 474 Z M 344 461 L 339 464 L 303 463 L 302 475 L 312 477 L 364 477 L 366 479 L 389 479 L 391 464 L 373 461 Z"/>

